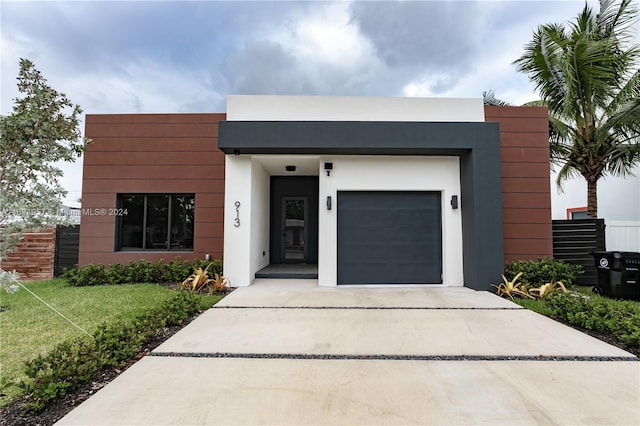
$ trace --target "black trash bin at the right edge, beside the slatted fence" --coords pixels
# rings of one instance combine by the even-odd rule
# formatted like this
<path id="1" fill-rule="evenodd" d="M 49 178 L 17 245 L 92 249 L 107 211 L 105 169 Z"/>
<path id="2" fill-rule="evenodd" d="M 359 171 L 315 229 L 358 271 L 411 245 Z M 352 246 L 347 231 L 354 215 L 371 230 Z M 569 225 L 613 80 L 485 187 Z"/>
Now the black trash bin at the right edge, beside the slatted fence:
<path id="1" fill-rule="evenodd" d="M 591 252 L 598 268 L 598 287 L 614 299 L 640 300 L 640 253 Z"/>

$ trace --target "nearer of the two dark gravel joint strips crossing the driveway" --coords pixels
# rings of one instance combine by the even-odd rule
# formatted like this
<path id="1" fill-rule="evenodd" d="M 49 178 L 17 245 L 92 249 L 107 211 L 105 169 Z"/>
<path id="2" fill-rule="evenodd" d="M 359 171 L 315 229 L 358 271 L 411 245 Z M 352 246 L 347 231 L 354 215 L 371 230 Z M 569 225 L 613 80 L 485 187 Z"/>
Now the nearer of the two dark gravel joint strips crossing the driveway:
<path id="1" fill-rule="evenodd" d="M 355 354 L 274 354 L 232 352 L 151 352 L 159 358 L 240 358 L 240 359 L 303 359 L 303 360 L 383 360 L 383 361 L 579 361 L 579 362 L 639 362 L 634 356 L 585 355 L 355 355 Z"/>

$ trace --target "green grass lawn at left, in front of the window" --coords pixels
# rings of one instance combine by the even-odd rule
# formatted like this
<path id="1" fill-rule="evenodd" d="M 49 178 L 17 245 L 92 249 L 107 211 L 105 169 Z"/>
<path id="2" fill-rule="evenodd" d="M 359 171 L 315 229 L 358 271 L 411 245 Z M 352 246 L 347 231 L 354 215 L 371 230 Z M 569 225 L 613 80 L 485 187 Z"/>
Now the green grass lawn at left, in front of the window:
<path id="1" fill-rule="evenodd" d="M 130 320 L 168 300 L 173 291 L 154 284 L 67 287 L 60 279 L 26 283 L 26 287 L 87 333 L 105 321 Z M 211 304 L 218 298 L 211 297 Z M 56 344 L 83 336 L 80 330 L 21 289 L 15 294 L 0 291 L 0 375 L 8 380 L 24 377 L 23 362 L 46 353 Z M 0 406 L 17 389 L 3 389 Z"/>

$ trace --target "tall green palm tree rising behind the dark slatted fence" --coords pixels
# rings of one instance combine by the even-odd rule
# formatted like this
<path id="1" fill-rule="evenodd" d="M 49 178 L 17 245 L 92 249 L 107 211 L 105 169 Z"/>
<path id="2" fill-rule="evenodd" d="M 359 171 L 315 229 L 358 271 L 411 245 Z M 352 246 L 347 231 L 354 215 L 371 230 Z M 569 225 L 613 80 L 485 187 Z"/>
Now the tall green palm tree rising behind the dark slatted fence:
<path id="1" fill-rule="evenodd" d="M 640 162 L 640 45 L 632 0 L 587 4 L 575 21 L 541 25 L 518 71 L 536 84 L 549 109 L 551 161 L 557 184 L 577 174 L 587 181 L 587 215 L 598 217 L 597 183 L 630 175 Z"/>

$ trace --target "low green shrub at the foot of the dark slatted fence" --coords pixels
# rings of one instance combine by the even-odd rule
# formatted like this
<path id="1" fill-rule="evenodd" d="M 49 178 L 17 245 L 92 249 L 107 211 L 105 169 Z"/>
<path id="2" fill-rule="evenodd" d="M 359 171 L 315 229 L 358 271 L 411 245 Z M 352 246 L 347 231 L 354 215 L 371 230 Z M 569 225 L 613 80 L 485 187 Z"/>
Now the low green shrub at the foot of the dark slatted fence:
<path id="1" fill-rule="evenodd" d="M 562 281 L 565 286 L 570 286 L 584 270 L 580 265 L 554 259 L 518 260 L 505 263 L 505 276 L 514 277 L 520 272 L 522 272 L 523 283 L 539 287 L 556 281 Z"/>

